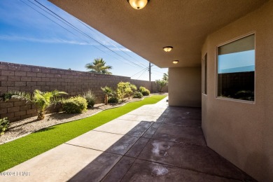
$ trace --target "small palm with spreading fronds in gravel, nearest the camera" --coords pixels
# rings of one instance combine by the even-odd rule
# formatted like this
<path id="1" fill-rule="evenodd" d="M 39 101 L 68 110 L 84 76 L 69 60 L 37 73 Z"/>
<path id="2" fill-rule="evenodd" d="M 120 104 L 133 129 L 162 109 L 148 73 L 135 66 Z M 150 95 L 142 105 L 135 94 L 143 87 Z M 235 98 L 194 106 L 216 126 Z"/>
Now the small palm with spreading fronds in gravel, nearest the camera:
<path id="1" fill-rule="evenodd" d="M 45 118 L 45 111 L 49 106 L 55 104 L 60 99 L 57 99 L 61 94 L 67 94 L 66 92 L 60 92 L 53 90 L 51 92 L 41 92 L 40 90 L 34 90 L 33 95 L 27 92 L 13 92 L 11 98 L 23 99 L 27 102 L 32 102 L 38 109 L 38 120 Z"/>

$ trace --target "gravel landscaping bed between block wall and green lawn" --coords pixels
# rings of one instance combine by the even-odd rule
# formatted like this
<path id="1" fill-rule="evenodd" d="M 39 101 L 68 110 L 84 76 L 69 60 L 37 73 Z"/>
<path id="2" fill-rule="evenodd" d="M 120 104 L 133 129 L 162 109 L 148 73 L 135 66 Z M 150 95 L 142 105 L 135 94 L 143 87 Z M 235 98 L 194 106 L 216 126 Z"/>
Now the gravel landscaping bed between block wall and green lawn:
<path id="1" fill-rule="evenodd" d="M 86 118 L 92 116 L 94 113 L 103 111 L 106 109 L 112 109 L 115 107 L 123 106 L 129 102 L 137 102 L 142 99 L 130 98 L 125 99 L 124 102 L 119 104 L 95 104 L 94 108 L 87 109 L 86 112 L 80 114 L 67 114 L 67 113 L 49 113 L 45 115 L 44 120 L 37 120 L 37 116 L 27 118 L 25 120 L 19 120 L 13 123 L 10 123 L 8 131 L 0 137 L 0 144 L 4 144 L 8 141 L 17 139 L 18 137 L 23 137 L 31 132 L 36 132 L 41 130 L 44 127 L 50 127 L 52 125 L 57 125 L 60 123 L 67 123 L 73 120 L 79 120 L 81 118 Z"/>

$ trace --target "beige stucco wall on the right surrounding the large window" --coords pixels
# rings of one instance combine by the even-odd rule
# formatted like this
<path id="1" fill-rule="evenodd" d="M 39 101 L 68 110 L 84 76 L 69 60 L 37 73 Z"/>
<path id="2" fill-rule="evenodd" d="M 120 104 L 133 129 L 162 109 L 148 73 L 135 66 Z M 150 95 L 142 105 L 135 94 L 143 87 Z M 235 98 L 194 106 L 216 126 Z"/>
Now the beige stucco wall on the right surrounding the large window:
<path id="1" fill-rule="evenodd" d="M 207 144 L 258 181 L 273 181 L 273 1 L 207 37 Z M 255 32 L 255 103 L 216 99 L 216 46 Z"/>

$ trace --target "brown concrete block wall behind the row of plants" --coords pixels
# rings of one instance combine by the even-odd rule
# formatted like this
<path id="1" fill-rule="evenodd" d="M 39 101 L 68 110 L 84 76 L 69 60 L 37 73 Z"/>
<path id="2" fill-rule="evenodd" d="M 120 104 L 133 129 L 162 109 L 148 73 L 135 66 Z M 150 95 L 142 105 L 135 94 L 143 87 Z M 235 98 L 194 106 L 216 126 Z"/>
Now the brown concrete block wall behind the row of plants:
<path id="1" fill-rule="evenodd" d="M 91 89 L 97 97 L 97 103 L 102 103 L 104 93 L 101 87 L 107 85 L 116 89 L 120 81 L 129 81 L 137 87 L 144 86 L 154 91 L 151 82 L 133 80 L 125 76 L 0 62 L 0 95 L 10 90 L 33 92 L 38 89 L 41 91 L 59 90 L 67 92 L 69 96 L 75 96 Z M 48 113 L 54 111 L 57 109 L 52 108 Z M 30 103 L 26 104 L 25 101 L 17 99 L 10 99 L 8 102 L 0 101 L 0 118 L 8 117 L 10 121 L 16 121 L 36 116 L 36 114 L 36 107 Z"/>

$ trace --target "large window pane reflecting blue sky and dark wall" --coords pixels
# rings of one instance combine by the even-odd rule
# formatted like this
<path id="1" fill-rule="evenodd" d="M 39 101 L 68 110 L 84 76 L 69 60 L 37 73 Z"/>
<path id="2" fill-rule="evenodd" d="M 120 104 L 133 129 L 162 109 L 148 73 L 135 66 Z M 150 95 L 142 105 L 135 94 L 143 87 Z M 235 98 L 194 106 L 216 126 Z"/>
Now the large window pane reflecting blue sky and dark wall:
<path id="1" fill-rule="evenodd" d="M 255 34 L 218 47 L 218 97 L 254 101 Z"/>

